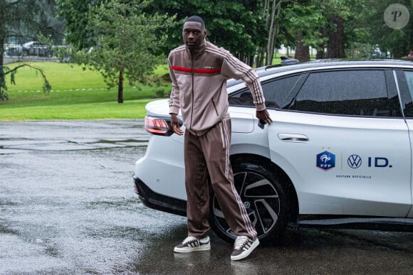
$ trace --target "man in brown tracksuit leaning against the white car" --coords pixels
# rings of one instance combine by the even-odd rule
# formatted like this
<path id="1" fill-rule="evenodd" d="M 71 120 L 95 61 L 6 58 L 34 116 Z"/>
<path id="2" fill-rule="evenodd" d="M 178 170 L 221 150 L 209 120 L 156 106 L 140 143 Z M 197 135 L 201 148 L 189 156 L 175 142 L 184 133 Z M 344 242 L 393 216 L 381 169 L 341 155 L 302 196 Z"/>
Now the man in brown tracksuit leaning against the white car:
<path id="1" fill-rule="evenodd" d="M 231 120 L 228 112 L 226 80 L 243 79 L 252 92 L 256 117 L 271 124 L 261 84 L 251 67 L 223 48 L 206 42 L 205 23 L 199 16 L 185 21 L 184 45 L 169 53 L 172 92 L 169 100 L 171 128 L 184 134 L 185 188 L 187 190 L 188 237 L 174 252 L 209 250 L 208 177 L 224 217 L 236 234 L 231 260 L 244 259 L 258 244 L 256 230 L 234 188 L 229 162 Z M 182 112 L 185 133 L 177 114 Z"/>

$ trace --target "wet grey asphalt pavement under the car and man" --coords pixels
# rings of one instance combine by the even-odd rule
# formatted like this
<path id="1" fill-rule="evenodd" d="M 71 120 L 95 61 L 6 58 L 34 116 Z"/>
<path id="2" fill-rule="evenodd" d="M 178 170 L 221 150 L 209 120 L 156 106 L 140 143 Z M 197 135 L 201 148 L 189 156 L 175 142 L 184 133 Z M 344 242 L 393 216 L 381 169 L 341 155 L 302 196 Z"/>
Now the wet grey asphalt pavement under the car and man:
<path id="1" fill-rule="evenodd" d="M 184 217 L 134 193 L 142 120 L 0 122 L 0 274 L 413 274 L 413 233 L 289 229 L 230 261 L 174 254 Z"/>

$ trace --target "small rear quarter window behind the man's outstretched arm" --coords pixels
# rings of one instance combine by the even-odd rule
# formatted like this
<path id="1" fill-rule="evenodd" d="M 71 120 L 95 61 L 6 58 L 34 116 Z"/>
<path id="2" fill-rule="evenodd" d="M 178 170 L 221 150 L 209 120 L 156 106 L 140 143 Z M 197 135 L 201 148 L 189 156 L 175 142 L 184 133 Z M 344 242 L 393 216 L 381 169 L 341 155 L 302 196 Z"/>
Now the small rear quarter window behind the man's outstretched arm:
<path id="1" fill-rule="evenodd" d="M 282 106 L 286 96 L 296 84 L 299 75 L 291 77 L 283 77 L 276 80 L 268 80 L 261 83 L 263 94 L 266 99 L 267 108 L 279 108 Z M 233 92 L 229 95 L 229 105 L 255 107 L 253 98 L 248 88 L 242 89 L 239 92 Z"/>

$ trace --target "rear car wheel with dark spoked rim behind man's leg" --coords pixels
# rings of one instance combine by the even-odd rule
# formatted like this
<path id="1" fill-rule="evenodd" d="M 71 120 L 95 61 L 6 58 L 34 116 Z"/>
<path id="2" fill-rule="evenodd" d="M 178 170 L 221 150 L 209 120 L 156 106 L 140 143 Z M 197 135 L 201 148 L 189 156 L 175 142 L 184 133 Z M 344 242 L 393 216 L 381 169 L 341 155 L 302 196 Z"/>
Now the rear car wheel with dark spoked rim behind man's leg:
<path id="1" fill-rule="evenodd" d="M 286 193 L 271 166 L 249 159 L 233 161 L 234 185 L 262 243 L 278 238 L 286 227 L 288 203 Z M 211 192 L 209 223 L 226 242 L 234 242 L 235 234 L 226 223 L 218 200 Z"/>

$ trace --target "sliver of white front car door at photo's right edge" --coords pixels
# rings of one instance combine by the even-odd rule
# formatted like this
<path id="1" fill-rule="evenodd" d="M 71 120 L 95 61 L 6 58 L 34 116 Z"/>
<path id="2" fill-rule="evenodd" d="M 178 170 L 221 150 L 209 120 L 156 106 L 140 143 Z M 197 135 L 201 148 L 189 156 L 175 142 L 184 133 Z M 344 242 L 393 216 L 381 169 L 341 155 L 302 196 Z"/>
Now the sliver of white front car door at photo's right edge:
<path id="1" fill-rule="evenodd" d="M 409 136 L 411 148 L 413 148 L 413 70 L 400 69 L 397 73 L 397 87 L 399 87 L 403 113 L 406 119 L 406 124 L 409 128 Z M 412 171 L 413 173 L 413 171 Z M 413 178 L 413 175 L 412 175 Z M 413 197 L 413 183 L 411 192 Z M 413 217 L 413 209 L 411 208 L 407 217 Z"/>

